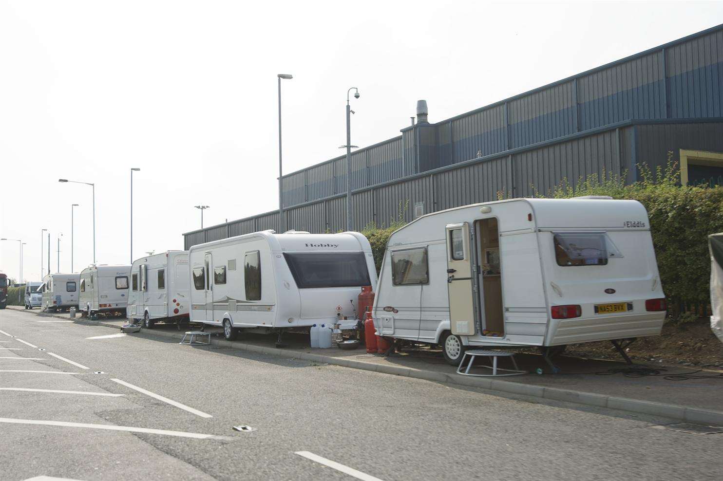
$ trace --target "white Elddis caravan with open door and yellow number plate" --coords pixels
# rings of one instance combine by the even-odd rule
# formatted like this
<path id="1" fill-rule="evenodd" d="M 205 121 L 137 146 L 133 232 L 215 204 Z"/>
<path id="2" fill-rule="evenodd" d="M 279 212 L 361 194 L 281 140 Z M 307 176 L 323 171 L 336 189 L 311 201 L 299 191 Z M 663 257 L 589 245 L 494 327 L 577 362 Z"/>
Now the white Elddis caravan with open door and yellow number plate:
<path id="1" fill-rule="evenodd" d="M 450 364 L 468 347 L 540 346 L 550 365 L 564 345 L 658 335 L 666 308 L 649 225 L 639 202 L 606 196 L 419 217 L 389 238 L 377 334 L 440 344 Z"/>

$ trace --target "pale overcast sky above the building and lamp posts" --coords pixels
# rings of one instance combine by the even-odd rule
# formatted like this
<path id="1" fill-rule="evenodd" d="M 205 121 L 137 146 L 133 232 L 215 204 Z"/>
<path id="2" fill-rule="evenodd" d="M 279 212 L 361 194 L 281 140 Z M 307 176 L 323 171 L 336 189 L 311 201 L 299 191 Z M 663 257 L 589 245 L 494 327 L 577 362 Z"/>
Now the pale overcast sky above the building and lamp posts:
<path id="1" fill-rule="evenodd" d="M 278 208 L 284 173 L 397 136 L 426 99 L 436 122 L 723 22 L 722 2 L 0 0 L 0 237 L 24 275 L 129 264 L 182 233 Z M 47 238 L 46 238 L 47 240 Z M 17 242 L 0 271 L 17 277 Z M 47 259 L 46 251 L 43 256 Z M 46 269 L 47 269 L 47 261 Z"/>

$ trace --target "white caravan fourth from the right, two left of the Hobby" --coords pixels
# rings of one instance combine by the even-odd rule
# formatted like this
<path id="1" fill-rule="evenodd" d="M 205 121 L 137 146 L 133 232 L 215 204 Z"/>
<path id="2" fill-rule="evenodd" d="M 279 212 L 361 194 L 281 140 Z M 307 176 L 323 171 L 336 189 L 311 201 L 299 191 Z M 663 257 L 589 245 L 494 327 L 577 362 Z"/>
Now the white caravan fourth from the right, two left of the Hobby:
<path id="1" fill-rule="evenodd" d="M 90 264 L 80 272 L 80 310 L 88 317 L 98 312 L 125 316 L 130 266 Z"/>

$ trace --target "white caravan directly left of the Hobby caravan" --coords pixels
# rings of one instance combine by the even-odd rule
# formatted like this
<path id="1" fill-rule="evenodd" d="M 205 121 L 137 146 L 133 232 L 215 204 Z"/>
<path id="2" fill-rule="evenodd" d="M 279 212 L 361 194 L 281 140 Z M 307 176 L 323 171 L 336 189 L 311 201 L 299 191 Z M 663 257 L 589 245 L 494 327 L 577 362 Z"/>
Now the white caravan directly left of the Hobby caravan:
<path id="1" fill-rule="evenodd" d="M 188 321 L 188 251 L 142 257 L 131 266 L 128 317 L 150 329 L 156 321 Z"/>

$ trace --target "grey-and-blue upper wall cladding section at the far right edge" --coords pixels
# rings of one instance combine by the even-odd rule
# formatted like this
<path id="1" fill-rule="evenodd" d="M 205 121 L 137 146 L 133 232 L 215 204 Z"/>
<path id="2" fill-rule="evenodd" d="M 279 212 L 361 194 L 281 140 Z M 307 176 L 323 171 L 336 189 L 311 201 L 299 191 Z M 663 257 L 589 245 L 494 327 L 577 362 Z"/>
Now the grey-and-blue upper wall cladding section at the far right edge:
<path id="1" fill-rule="evenodd" d="M 672 118 L 723 116 L 723 30 L 666 49 Z"/>

